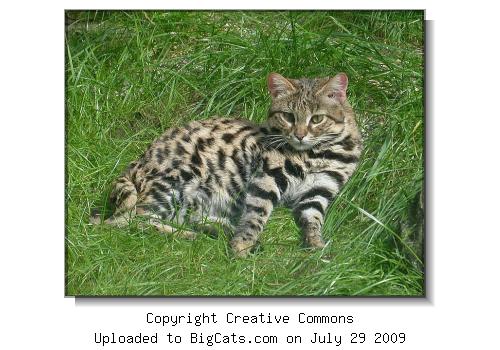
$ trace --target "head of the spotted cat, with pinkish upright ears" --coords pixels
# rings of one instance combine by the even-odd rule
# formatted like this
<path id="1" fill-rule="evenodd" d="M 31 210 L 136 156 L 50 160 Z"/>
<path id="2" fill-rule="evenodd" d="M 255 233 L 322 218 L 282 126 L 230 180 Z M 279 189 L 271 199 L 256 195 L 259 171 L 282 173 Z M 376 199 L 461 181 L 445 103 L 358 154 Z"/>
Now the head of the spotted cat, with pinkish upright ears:
<path id="1" fill-rule="evenodd" d="M 342 135 L 351 117 L 344 73 L 320 79 L 287 79 L 271 73 L 267 83 L 272 97 L 270 147 L 286 142 L 305 151 Z"/>

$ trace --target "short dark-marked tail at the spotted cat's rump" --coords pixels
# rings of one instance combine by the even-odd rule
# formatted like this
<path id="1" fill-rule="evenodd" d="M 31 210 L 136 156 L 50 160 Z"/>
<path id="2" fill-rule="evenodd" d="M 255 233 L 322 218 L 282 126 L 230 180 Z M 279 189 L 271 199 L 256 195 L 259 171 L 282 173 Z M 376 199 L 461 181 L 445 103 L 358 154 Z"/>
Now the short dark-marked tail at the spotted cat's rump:
<path id="1" fill-rule="evenodd" d="M 102 211 L 94 209 L 90 215 L 91 224 L 99 225 L 104 222 L 108 225 L 120 226 L 127 218 L 135 215 L 137 188 L 127 175 L 119 177 L 113 185 L 109 197 L 110 205 L 115 208 L 113 215 L 103 220 Z"/>

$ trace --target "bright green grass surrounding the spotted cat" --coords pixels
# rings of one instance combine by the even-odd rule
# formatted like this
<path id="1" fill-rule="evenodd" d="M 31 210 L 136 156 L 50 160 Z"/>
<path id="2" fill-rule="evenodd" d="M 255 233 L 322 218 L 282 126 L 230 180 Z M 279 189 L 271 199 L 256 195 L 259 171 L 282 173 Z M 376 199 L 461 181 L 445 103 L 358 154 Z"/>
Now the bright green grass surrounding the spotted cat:
<path id="1" fill-rule="evenodd" d="M 68 295 L 423 295 L 400 221 L 423 183 L 423 12 L 69 12 Z M 327 216 L 322 252 L 277 209 L 262 251 L 88 225 L 113 179 L 166 129 L 213 115 L 261 122 L 265 78 L 350 78 L 362 162 Z"/>

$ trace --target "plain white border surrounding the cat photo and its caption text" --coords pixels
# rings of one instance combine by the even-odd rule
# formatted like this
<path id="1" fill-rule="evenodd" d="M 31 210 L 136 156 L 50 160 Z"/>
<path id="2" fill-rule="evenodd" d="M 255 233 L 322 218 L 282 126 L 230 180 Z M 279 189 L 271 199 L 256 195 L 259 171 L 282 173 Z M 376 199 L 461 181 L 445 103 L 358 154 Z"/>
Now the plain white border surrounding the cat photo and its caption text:
<path id="1" fill-rule="evenodd" d="M 73 298 L 64 298 L 63 277 L 64 9 L 172 5 L 165 1 L 4 3 L 0 20 L 0 347 L 92 349 L 98 348 L 92 344 L 95 331 L 165 332 L 145 323 L 148 311 L 291 316 L 304 311 L 352 314 L 356 321 L 350 329 L 292 324 L 288 328 L 238 326 L 224 331 L 248 335 L 405 331 L 408 340 L 404 345 L 364 344 L 358 348 L 498 348 L 500 15 L 494 3 L 307 1 L 308 7 L 318 9 L 425 8 L 427 20 L 433 22 L 427 46 L 427 300 L 108 299 L 77 304 Z M 186 0 L 176 5 L 215 7 L 213 2 Z M 220 6 L 234 8 L 236 4 Z M 239 7 L 250 6 L 305 5 L 252 1 Z M 208 333 L 210 329 L 199 331 Z M 178 327 L 175 332 L 186 334 L 189 329 Z M 303 344 L 300 348 L 304 345 L 310 347 Z M 184 344 L 183 348 L 202 347 Z"/>

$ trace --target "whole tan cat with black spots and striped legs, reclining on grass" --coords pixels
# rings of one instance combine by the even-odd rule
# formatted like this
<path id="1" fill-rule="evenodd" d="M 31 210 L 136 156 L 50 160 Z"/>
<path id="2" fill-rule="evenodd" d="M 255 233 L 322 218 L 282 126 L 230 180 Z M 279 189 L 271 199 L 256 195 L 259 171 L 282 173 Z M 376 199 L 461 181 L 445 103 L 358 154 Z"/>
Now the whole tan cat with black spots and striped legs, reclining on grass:
<path id="1" fill-rule="evenodd" d="M 234 253 L 245 256 L 274 207 L 284 205 L 306 245 L 323 247 L 325 213 L 362 149 L 347 77 L 295 80 L 272 73 L 268 87 L 272 103 L 262 126 L 213 118 L 163 134 L 116 180 L 116 209 L 104 222 L 123 226 L 143 215 L 169 233 L 186 222 L 200 230 L 220 223 L 234 232 Z"/>

